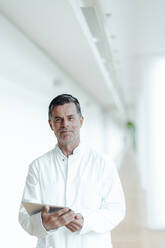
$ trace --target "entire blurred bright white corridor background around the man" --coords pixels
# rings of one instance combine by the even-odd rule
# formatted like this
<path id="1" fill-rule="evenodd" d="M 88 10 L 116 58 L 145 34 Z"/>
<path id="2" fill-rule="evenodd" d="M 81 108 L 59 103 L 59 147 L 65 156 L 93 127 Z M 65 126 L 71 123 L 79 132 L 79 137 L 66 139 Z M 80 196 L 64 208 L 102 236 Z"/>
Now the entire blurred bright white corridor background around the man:
<path id="1" fill-rule="evenodd" d="M 164 0 L 0 0 L 2 247 L 35 247 L 18 210 L 28 165 L 55 146 L 47 109 L 61 93 L 119 170 L 114 248 L 165 247 L 164 12 Z"/>

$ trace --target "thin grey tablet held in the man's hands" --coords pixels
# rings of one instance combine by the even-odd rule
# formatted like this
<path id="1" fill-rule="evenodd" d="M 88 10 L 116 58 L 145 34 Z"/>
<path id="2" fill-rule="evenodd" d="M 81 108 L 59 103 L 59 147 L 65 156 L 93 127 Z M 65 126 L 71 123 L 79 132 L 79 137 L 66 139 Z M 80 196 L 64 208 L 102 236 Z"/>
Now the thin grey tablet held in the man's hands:
<path id="1" fill-rule="evenodd" d="M 24 202 L 24 201 L 22 201 L 22 205 L 24 206 L 24 208 L 26 209 L 26 211 L 28 212 L 28 214 L 30 216 L 33 214 L 37 214 L 39 212 L 42 212 L 44 207 L 46 206 L 46 204 Z M 47 206 L 50 207 L 49 213 L 55 213 L 55 212 L 59 211 L 60 209 L 65 208 L 65 207 L 53 206 L 53 205 L 47 205 Z"/>

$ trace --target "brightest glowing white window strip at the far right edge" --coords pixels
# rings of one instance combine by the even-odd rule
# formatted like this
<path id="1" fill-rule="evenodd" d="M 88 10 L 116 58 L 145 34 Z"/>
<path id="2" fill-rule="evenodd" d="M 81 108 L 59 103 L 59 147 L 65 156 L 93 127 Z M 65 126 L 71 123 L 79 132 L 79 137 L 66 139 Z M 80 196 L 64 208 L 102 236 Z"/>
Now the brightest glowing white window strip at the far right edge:
<path id="1" fill-rule="evenodd" d="M 165 228 L 165 59 L 159 59 L 153 68 L 150 81 L 151 164 L 148 170 L 151 177 L 148 213 L 151 228 Z"/>

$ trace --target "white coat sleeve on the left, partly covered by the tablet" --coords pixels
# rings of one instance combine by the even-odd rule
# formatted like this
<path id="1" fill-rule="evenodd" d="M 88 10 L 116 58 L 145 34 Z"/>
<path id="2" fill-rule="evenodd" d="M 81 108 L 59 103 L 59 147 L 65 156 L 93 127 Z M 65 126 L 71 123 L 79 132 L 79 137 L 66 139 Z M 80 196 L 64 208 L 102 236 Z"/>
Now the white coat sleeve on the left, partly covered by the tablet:
<path id="1" fill-rule="evenodd" d="M 39 170 L 37 167 L 37 162 L 33 162 L 29 166 L 22 201 L 34 203 L 42 202 L 40 197 Z M 42 238 L 53 233 L 52 231 L 46 231 L 44 228 L 42 224 L 41 213 L 29 216 L 22 204 L 19 210 L 19 223 L 25 231 L 31 235 L 36 236 L 37 238 Z"/>

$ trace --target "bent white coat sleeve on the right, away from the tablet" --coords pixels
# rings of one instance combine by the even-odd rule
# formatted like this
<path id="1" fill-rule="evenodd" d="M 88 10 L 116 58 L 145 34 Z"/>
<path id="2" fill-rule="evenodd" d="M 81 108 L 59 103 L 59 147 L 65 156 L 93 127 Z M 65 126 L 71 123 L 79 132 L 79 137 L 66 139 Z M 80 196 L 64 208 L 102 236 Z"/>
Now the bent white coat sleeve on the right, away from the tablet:
<path id="1" fill-rule="evenodd" d="M 84 224 L 80 234 L 105 233 L 114 229 L 125 216 L 125 199 L 115 166 L 105 166 L 102 177 L 102 203 L 99 209 L 80 210 Z"/>

